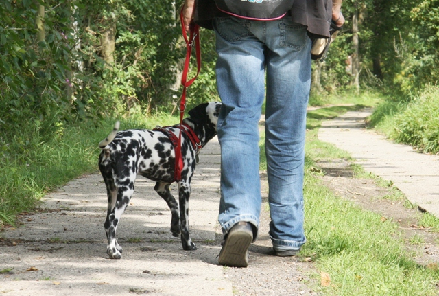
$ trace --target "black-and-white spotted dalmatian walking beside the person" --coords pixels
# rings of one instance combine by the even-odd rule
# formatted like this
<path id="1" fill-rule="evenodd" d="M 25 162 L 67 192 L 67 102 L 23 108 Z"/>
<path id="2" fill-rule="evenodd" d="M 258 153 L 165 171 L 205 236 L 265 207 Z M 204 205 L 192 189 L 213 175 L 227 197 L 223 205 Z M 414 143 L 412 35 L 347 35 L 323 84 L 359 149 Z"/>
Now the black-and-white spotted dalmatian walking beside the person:
<path id="1" fill-rule="evenodd" d="M 137 174 L 156 182 L 154 190 L 171 209 L 171 233 L 180 236 L 185 250 L 195 250 L 189 237 L 189 196 L 191 179 L 195 170 L 198 150 L 217 134 L 220 102 L 204 103 L 189 111 L 183 124 L 156 128 L 154 130 L 119 130 L 119 122 L 106 139 L 99 143 L 99 170 L 106 185 L 108 210 L 104 229 L 108 239 L 107 253 L 112 259 L 120 259 L 122 247 L 116 240 L 117 224 L 130 203 Z M 175 139 L 181 135 L 178 203 L 169 191 L 175 181 Z M 195 136 L 194 136 L 195 134 Z M 193 137 L 199 140 L 193 143 Z M 173 140 L 174 139 L 174 140 Z M 180 207 L 178 207 L 180 205 Z"/>

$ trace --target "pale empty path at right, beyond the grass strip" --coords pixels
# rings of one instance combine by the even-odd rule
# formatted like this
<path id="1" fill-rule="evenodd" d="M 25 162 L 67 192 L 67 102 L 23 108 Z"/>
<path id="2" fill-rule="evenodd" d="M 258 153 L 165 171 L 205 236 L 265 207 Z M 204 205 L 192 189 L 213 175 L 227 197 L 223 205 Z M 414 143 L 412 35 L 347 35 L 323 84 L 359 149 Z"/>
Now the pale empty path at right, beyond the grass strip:
<path id="1" fill-rule="evenodd" d="M 414 205 L 439 217 L 439 157 L 394 144 L 365 128 L 370 109 L 322 123 L 318 137 L 346 150 L 367 172 L 392 181 Z"/>

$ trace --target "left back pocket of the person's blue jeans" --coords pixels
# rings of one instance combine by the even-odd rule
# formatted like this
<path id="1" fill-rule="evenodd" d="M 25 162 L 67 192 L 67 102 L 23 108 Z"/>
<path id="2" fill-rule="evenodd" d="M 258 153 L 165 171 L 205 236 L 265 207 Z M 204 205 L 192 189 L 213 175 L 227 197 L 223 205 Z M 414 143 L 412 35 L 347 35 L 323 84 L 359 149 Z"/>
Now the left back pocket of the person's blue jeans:
<path id="1" fill-rule="evenodd" d="M 217 17 L 213 20 L 213 27 L 219 36 L 228 42 L 236 42 L 251 35 L 248 30 L 250 21 L 235 17 Z"/>

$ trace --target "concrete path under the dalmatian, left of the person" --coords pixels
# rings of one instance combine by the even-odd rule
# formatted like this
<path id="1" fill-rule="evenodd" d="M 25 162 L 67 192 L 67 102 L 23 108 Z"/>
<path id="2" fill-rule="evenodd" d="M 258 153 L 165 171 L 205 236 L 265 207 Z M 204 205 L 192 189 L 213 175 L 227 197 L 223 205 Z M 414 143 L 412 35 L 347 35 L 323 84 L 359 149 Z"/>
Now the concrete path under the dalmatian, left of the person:
<path id="1" fill-rule="evenodd" d="M 108 259 L 105 185 L 99 174 L 84 176 L 45 196 L 41 212 L 22 214 L 21 227 L 1 233 L 0 293 L 233 295 L 216 259 L 219 152 L 215 138 L 202 150 L 193 177 L 189 223 L 198 250 L 182 250 L 154 182 L 139 177 L 117 229 L 122 259 Z"/>

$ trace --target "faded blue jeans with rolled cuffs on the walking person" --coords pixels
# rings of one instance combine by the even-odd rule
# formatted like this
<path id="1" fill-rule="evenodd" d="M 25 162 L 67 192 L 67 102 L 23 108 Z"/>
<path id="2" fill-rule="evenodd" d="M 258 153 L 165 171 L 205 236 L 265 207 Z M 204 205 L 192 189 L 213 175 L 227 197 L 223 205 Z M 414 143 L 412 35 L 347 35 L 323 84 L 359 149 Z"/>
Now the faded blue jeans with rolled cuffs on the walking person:
<path id="1" fill-rule="evenodd" d="M 221 145 L 219 223 L 226 234 L 261 212 L 259 130 L 265 98 L 265 152 L 270 238 L 276 251 L 300 249 L 303 231 L 305 122 L 311 82 L 311 41 L 289 16 L 277 21 L 214 20 L 218 54 Z M 266 74 L 266 78 L 265 78 Z M 266 89 L 265 89 L 266 81 Z"/>

